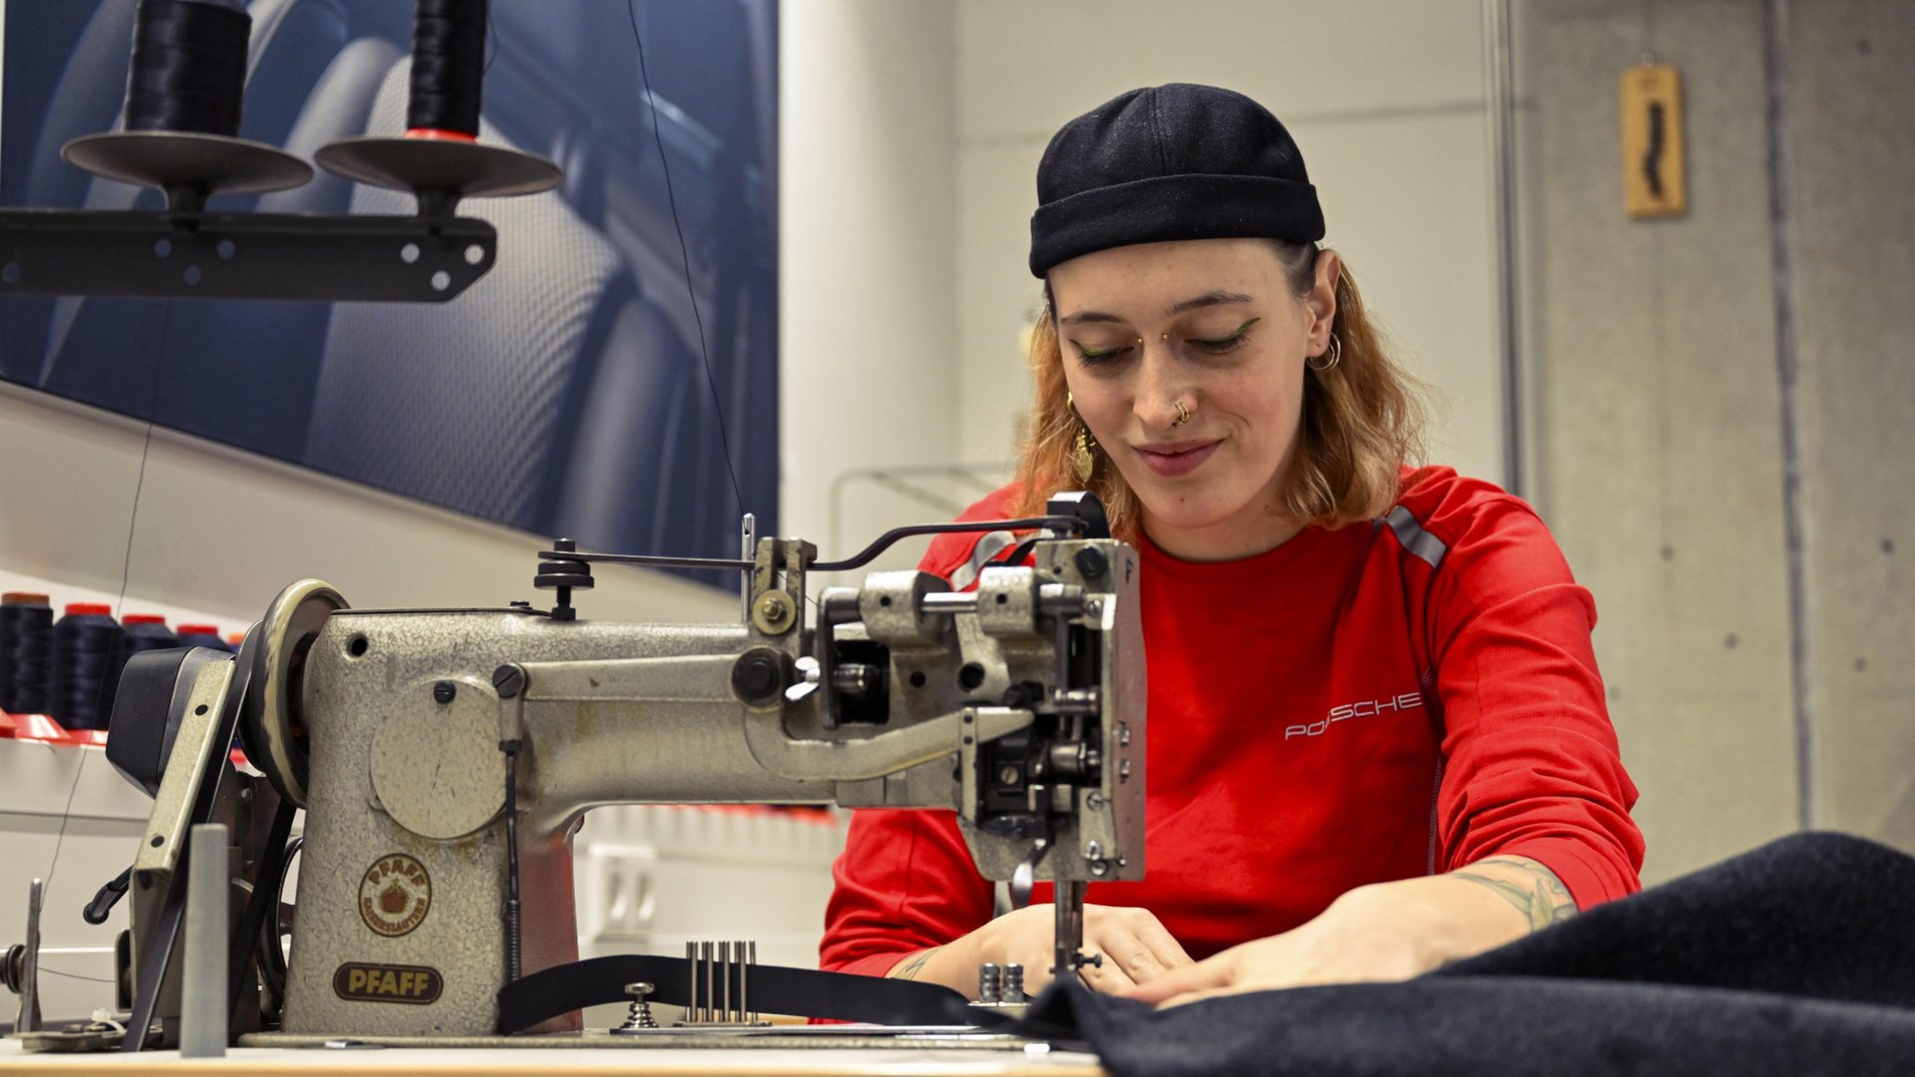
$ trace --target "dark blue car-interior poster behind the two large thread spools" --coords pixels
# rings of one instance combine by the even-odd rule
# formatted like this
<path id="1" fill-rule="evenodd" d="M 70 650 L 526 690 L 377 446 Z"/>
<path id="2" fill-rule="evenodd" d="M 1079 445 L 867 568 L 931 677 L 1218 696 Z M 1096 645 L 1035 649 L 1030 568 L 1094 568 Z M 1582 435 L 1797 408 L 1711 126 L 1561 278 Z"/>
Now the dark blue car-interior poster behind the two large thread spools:
<path id="1" fill-rule="evenodd" d="M 247 10 L 243 138 L 310 161 L 402 132 L 412 4 Z M 134 13 L 8 0 L 0 205 L 163 207 L 59 157 L 119 126 Z M 463 295 L 0 295 L 0 378 L 584 548 L 730 558 L 741 512 L 776 533 L 776 2 L 492 0 L 486 48 L 481 140 L 565 180 L 462 203 L 498 230 L 498 264 Z M 320 171 L 209 209 L 414 199 Z"/>

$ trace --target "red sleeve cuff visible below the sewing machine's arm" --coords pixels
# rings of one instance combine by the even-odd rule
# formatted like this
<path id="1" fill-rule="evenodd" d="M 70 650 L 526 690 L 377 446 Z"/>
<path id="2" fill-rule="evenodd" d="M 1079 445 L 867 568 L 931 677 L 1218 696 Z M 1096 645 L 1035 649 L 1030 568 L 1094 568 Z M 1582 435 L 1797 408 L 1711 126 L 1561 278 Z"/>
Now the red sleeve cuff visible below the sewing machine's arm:
<path id="1" fill-rule="evenodd" d="M 992 885 L 948 811 L 867 809 L 852 814 L 831 864 L 818 966 L 885 975 L 904 954 L 975 931 L 992 912 Z"/>

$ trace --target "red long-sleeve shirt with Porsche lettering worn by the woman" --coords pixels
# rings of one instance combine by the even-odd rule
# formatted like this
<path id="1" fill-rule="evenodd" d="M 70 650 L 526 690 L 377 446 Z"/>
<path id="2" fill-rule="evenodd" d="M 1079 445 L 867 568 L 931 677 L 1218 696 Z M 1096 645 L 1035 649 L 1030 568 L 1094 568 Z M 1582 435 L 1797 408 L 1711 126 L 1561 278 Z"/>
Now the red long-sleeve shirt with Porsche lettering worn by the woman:
<path id="1" fill-rule="evenodd" d="M 1375 525 L 1241 561 L 1138 538 L 1147 878 L 1090 883 L 1092 905 L 1149 908 L 1203 960 L 1352 887 L 1499 853 L 1543 862 L 1584 908 L 1639 887 L 1589 592 L 1522 500 L 1448 468 L 1404 487 Z M 923 567 L 963 586 L 1002 542 L 946 535 Z M 992 914 L 952 813 L 856 813 L 833 876 L 827 970 L 881 975 Z"/>

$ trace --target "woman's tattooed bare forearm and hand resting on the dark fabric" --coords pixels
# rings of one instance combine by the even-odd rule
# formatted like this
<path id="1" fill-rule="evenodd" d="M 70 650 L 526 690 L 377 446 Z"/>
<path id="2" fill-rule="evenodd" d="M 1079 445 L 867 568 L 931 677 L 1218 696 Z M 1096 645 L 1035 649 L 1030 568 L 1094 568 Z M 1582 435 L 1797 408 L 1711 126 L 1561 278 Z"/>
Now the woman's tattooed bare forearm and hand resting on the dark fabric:
<path id="1" fill-rule="evenodd" d="M 1496 857 L 1450 872 L 1352 889 L 1316 920 L 1118 991 L 1182 1006 L 1216 995 L 1423 975 L 1574 916 L 1543 864 Z"/>

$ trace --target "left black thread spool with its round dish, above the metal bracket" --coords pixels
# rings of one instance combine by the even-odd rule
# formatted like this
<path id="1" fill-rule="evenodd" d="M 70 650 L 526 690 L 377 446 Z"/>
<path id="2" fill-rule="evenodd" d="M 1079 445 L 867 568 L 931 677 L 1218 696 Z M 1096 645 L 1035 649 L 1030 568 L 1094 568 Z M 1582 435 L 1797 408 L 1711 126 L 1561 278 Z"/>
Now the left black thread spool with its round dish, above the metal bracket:
<path id="1" fill-rule="evenodd" d="M 253 17 L 224 0 L 140 0 L 126 73 L 126 130 L 86 134 L 59 149 L 109 180 L 167 192 L 167 209 L 199 213 L 207 197 L 297 188 L 304 161 L 237 138 Z"/>

